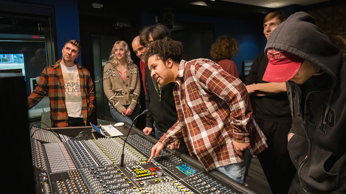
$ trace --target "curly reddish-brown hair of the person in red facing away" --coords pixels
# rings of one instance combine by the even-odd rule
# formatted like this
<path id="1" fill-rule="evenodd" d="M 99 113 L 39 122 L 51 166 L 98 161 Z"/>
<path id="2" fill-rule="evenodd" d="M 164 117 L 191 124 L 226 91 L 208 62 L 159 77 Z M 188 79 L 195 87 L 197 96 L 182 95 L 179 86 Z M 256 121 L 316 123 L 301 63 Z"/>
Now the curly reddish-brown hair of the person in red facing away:
<path id="1" fill-rule="evenodd" d="M 238 42 L 236 39 L 226 35 L 219 36 L 215 43 L 211 45 L 210 56 L 213 61 L 230 59 L 238 52 Z"/>

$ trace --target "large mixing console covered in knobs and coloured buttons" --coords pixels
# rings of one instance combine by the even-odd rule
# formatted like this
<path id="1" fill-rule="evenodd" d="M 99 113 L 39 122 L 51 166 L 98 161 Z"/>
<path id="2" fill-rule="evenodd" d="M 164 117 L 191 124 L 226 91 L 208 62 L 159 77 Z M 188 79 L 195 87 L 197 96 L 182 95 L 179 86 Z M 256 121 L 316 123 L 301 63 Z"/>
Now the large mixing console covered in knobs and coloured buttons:
<path id="1" fill-rule="evenodd" d="M 192 161 L 164 149 L 147 163 L 154 142 L 130 135 L 125 165 L 120 167 L 124 138 L 60 143 L 31 140 L 36 192 L 54 194 L 217 194 L 244 193 L 207 173 Z"/>

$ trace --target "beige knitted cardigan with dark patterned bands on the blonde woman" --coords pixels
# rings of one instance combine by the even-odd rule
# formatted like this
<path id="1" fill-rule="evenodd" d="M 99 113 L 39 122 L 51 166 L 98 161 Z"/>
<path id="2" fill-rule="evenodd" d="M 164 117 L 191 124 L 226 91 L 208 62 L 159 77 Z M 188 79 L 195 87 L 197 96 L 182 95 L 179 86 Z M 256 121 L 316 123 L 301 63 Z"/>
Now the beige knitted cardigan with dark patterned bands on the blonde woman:
<path id="1" fill-rule="evenodd" d="M 139 104 L 140 94 L 137 65 L 134 63 L 127 65 L 124 83 L 116 65 L 111 61 L 107 61 L 103 68 L 103 91 L 109 100 L 108 105 L 113 105 L 119 113 L 124 110 L 123 105 L 129 105 L 129 108 L 134 110 L 136 105 Z"/>

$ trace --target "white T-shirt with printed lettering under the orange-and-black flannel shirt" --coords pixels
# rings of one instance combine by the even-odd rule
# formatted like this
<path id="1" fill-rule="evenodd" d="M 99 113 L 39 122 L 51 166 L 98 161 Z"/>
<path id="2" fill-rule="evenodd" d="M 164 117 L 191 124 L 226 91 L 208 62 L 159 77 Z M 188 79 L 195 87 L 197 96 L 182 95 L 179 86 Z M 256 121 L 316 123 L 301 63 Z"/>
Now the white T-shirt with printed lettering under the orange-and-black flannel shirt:
<path id="1" fill-rule="evenodd" d="M 61 63 L 60 63 L 61 64 Z M 65 103 L 69 117 L 83 117 L 81 87 L 77 65 L 66 67 L 61 64 L 65 83 Z"/>

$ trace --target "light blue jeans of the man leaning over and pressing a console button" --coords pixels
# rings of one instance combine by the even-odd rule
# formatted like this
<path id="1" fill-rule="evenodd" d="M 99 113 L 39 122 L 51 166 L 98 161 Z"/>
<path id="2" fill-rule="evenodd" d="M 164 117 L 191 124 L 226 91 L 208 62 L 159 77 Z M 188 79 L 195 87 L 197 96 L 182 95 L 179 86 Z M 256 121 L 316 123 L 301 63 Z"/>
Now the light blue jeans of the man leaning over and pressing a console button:
<path id="1" fill-rule="evenodd" d="M 249 166 L 251 164 L 252 156 L 250 150 L 247 149 L 243 157 L 243 162 L 229 164 L 226 166 L 219 166 L 216 169 L 221 173 L 224 173 L 225 175 L 229 176 L 230 178 L 238 181 L 239 183 L 244 184 Z"/>

